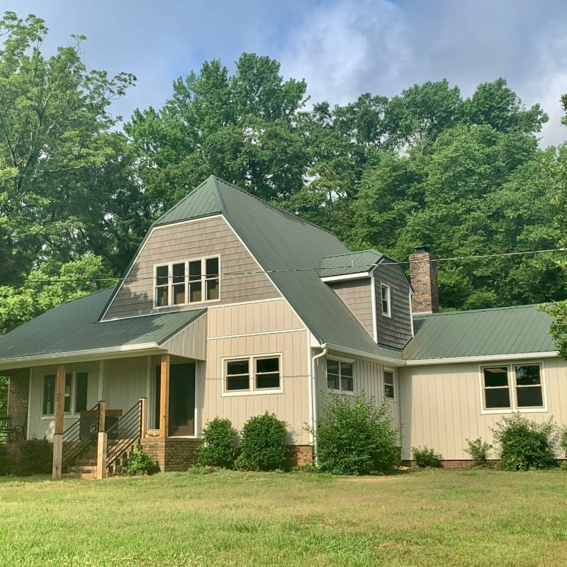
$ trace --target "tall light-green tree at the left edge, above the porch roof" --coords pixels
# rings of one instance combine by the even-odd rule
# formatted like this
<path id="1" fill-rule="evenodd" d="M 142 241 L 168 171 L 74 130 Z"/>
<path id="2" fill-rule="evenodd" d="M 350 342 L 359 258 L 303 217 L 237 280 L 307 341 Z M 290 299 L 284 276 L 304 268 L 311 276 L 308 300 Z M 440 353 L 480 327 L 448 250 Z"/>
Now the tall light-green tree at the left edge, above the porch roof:
<path id="1" fill-rule="evenodd" d="M 120 117 L 108 111 L 135 77 L 87 71 L 80 35 L 46 57 L 46 34 L 33 15 L 0 20 L 0 283 L 92 249 L 121 269 L 121 249 L 130 254 L 139 236 L 117 220 L 140 188 L 125 138 L 113 131 Z"/>

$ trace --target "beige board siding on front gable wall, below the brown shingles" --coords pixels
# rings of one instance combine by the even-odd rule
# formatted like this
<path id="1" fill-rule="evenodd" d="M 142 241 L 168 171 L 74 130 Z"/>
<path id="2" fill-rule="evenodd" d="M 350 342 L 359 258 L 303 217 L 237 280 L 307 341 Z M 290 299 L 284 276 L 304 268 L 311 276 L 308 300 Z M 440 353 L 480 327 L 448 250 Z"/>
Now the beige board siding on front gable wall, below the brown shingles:
<path id="1" fill-rule="evenodd" d="M 308 444 L 308 331 L 283 299 L 226 305 L 208 311 L 207 364 L 201 428 L 228 417 L 241 431 L 254 415 L 274 412 L 288 425 L 290 444 Z M 223 395 L 223 359 L 281 354 L 283 393 Z"/>

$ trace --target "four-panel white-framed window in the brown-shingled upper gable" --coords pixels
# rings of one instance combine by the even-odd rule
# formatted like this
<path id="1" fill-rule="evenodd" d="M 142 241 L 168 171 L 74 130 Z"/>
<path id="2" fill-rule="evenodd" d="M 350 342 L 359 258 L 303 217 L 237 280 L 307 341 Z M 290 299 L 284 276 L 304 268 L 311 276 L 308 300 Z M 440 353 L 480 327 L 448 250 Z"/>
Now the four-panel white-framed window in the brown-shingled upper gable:
<path id="1" fill-rule="evenodd" d="M 155 267 L 155 306 L 220 299 L 218 256 Z"/>

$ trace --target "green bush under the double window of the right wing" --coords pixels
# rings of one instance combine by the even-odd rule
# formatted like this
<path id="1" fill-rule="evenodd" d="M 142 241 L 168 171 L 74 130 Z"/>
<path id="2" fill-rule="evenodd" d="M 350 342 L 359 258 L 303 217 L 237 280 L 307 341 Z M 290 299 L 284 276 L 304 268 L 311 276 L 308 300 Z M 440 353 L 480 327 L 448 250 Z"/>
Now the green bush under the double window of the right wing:
<path id="1" fill-rule="evenodd" d="M 551 419 L 536 423 L 520 414 L 503 417 L 493 429 L 502 468 L 507 471 L 527 471 L 529 468 L 554 466 L 552 437 L 555 431 L 556 425 Z"/>

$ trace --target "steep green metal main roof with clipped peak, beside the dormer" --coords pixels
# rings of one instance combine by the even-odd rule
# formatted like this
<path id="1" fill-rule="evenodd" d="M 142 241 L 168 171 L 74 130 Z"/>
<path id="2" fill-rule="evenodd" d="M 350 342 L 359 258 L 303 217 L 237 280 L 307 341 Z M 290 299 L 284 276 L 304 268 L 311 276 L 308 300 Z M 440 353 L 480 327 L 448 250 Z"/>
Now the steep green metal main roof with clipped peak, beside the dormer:
<path id="1" fill-rule="evenodd" d="M 319 277 L 322 257 L 352 254 L 331 232 L 210 176 L 156 225 L 222 213 L 321 343 L 401 359 L 381 347 Z M 378 252 L 374 252 L 378 254 Z"/>

